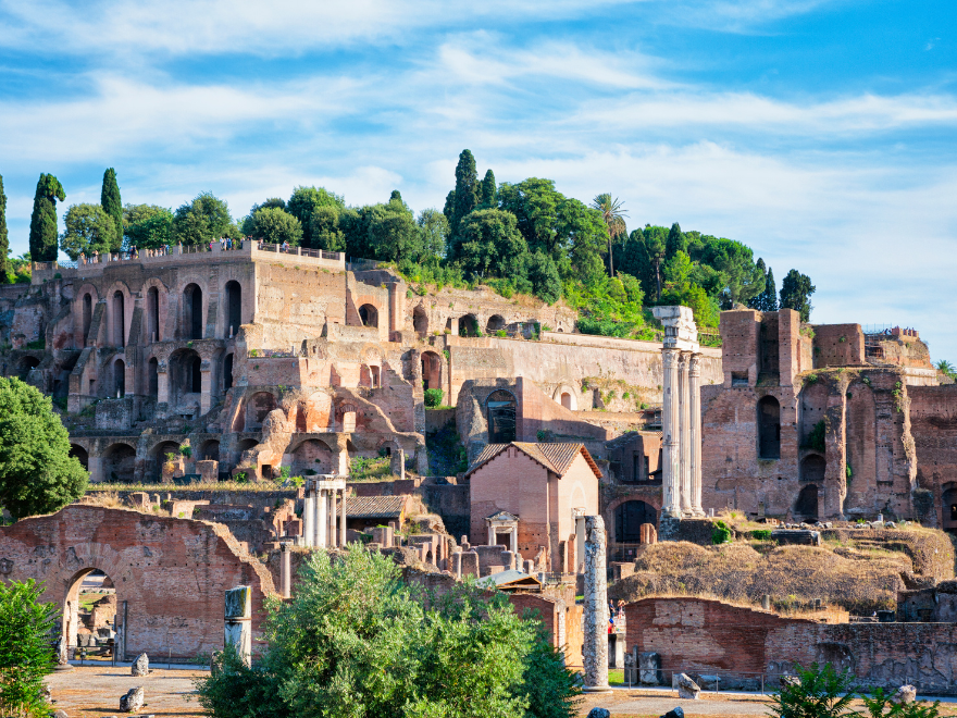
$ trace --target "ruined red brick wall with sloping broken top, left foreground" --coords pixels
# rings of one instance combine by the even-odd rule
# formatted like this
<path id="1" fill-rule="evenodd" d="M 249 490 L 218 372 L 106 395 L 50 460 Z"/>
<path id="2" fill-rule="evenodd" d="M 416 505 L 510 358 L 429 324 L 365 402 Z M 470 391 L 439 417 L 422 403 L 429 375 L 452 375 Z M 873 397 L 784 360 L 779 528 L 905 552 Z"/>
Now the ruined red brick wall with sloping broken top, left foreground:
<path id="1" fill-rule="evenodd" d="M 126 602 L 126 656 L 211 654 L 223 646 L 227 590 L 252 586 L 253 630 L 263 598 L 275 591 L 269 571 L 240 556 L 225 527 L 125 509 L 74 504 L 2 527 L 0 559 L 8 580 L 46 581 L 41 601 L 60 608 L 78 579 L 103 571 L 116 587 L 117 606 Z"/>

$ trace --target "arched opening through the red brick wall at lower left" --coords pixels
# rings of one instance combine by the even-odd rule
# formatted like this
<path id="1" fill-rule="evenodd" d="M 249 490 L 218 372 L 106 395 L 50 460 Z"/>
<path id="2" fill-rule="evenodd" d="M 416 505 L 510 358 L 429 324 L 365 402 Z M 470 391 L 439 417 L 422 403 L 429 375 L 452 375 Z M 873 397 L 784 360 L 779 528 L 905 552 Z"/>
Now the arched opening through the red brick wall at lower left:
<path id="1" fill-rule="evenodd" d="M 74 658 L 76 648 L 85 648 L 87 659 L 104 660 L 112 656 L 117 647 L 116 607 L 116 587 L 103 571 L 85 568 L 71 579 L 62 614 L 62 636 L 69 658 Z"/>

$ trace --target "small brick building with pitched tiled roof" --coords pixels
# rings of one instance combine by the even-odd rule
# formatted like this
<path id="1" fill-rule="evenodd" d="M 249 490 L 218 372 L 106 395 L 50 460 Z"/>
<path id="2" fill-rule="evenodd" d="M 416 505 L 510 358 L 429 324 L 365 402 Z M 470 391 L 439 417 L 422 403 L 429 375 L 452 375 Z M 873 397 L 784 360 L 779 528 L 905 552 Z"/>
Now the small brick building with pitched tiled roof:
<path id="1" fill-rule="evenodd" d="M 600 476 L 584 444 L 489 444 L 465 472 L 471 543 L 517 547 L 523 559 L 544 547 L 550 570 L 574 572 L 575 516 L 598 513 Z"/>

